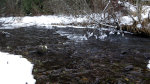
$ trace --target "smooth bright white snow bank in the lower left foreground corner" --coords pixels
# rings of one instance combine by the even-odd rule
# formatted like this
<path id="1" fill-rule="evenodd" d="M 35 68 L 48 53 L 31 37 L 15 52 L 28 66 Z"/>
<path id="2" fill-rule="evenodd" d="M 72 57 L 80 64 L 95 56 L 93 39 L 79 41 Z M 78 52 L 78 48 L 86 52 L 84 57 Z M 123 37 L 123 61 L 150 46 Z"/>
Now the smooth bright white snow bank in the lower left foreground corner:
<path id="1" fill-rule="evenodd" d="M 35 84 L 33 64 L 20 55 L 0 52 L 0 84 Z"/>

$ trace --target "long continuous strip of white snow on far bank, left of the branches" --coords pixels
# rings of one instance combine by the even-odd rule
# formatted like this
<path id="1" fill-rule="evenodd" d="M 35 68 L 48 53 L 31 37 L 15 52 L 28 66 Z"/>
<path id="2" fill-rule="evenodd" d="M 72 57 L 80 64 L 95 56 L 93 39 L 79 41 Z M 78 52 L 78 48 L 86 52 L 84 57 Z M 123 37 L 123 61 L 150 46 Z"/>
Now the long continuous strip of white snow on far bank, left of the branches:
<path id="1" fill-rule="evenodd" d="M 66 16 L 66 15 L 41 15 L 41 16 L 25 16 L 25 17 L 2 17 L 1 29 L 13 29 L 28 26 L 42 26 L 45 28 L 52 28 L 52 26 L 59 27 L 76 27 L 81 28 L 78 23 L 93 23 L 94 21 L 100 22 L 100 20 L 108 17 L 108 13 L 98 14 L 93 13 L 89 15 L 78 15 L 78 16 Z M 111 20 L 113 22 L 113 20 Z M 73 24 L 73 25 L 70 25 Z M 74 24 L 76 26 L 74 26 Z M 88 26 L 88 25 L 87 25 Z M 95 26 L 94 26 L 95 27 Z M 90 28 L 94 28 L 93 26 Z M 85 28 L 85 27 L 83 27 Z"/>

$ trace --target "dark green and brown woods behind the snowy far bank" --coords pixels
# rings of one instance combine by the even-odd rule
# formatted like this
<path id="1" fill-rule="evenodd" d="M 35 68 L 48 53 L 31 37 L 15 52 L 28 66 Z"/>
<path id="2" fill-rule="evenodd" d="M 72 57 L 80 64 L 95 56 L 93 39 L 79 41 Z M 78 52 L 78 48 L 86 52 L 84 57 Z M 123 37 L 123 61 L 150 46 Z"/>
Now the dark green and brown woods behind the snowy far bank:
<path id="1" fill-rule="evenodd" d="M 0 0 L 0 16 L 100 13 L 109 0 Z M 118 0 L 110 0 L 118 1 Z M 142 0 L 122 0 L 136 4 Z M 145 4 L 150 4 L 145 1 Z"/>

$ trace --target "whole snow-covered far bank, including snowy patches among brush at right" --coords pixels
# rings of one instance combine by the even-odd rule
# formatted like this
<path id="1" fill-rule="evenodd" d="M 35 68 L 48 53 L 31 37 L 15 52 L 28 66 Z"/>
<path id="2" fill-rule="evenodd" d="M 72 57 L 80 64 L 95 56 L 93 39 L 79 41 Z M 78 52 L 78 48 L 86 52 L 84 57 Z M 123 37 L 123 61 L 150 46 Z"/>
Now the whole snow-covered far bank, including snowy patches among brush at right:
<path id="1" fill-rule="evenodd" d="M 130 12 L 129 14 L 121 14 L 119 11 L 116 14 L 116 17 L 120 26 L 124 25 L 133 25 L 134 21 L 138 22 L 138 13 L 137 6 L 133 5 L 129 2 L 118 2 L 119 4 L 124 4 L 124 10 Z M 141 12 L 141 21 L 148 18 L 150 12 L 150 6 L 143 5 Z M 124 12 L 122 12 L 124 13 Z M 28 27 L 28 26 L 42 26 L 45 28 L 52 28 L 52 26 L 59 27 L 88 27 L 88 28 L 96 28 L 99 27 L 99 24 L 107 27 L 115 27 L 114 21 L 115 18 L 109 17 L 109 12 L 106 13 L 93 13 L 87 15 L 41 15 L 41 16 L 24 16 L 24 17 L 1 17 L 0 25 L 2 23 L 1 29 L 13 29 L 20 27 Z M 134 19 L 134 20 L 133 20 Z M 105 24 L 106 23 L 106 24 Z M 108 25 L 108 24 L 112 25 Z M 137 28 L 142 28 L 143 25 L 136 24 Z M 147 24 L 149 27 L 149 24 Z"/>

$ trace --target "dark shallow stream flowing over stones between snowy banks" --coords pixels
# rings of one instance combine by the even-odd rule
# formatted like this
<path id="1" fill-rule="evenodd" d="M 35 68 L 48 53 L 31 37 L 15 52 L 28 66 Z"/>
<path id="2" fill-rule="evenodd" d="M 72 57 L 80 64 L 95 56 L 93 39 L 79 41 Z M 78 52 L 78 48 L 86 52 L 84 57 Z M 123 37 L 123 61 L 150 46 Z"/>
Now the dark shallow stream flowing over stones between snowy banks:
<path id="1" fill-rule="evenodd" d="M 0 30 L 0 50 L 23 55 L 34 64 L 36 84 L 148 84 L 149 38 L 125 34 L 76 42 L 59 32 L 93 29 L 19 28 Z M 69 34 L 72 34 L 69 33 Z M 108 33 L 108 32 L 107 32 Z"/>

